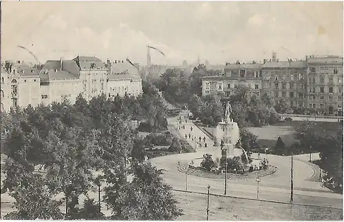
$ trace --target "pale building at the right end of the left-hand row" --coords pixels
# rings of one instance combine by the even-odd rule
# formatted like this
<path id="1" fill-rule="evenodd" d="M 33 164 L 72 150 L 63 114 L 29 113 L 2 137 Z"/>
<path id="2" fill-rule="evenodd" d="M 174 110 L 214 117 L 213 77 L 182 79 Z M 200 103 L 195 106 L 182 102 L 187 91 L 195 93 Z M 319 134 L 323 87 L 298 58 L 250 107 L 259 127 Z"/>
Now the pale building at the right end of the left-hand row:
<path id="1" fill-rule="evenodd" d="M 134 65 L 134 66 L 133 66 Z M 124 60 L 107 60 L 107 93 L 109 98 L 115 96 L 138 96 L 142 93 L 142 79 L 139 74 L 139 65 L 131 65 Z"/>

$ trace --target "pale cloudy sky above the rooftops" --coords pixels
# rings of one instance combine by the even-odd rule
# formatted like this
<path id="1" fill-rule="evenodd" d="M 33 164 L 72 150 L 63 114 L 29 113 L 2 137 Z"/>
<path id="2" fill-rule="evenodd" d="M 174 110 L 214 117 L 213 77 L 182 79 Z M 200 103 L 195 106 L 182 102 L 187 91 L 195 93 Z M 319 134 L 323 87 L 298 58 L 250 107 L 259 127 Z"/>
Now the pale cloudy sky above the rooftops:
<path id="1" fill-rule="evenodd" d="M 343 55 L 343 3 L 5 1 L 1 60 L 34 62 L 96 56 L 147 64 L 250 62 Z"/>

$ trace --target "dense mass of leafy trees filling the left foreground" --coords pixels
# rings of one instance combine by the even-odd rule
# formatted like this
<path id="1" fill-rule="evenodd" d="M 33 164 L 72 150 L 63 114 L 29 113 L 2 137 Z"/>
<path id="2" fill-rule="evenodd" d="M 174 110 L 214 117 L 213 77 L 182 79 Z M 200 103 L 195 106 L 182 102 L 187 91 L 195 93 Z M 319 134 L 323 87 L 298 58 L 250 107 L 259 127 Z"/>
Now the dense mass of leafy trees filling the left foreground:
<path id="1" fill-rule="evenodd" d="M 114 100 L 103 95 L 89 102 L 78 96 L 75 104 L 54 102 L 1 113 L 1 129 L 10 131 L 3 142 L 8 159 L 1 192 L 9 192 L 16 206 L 6 218 L 104 219 L 94 200 L 85 199 L 98 186 L 111 219 L 178 217 L 171 188 L 159 170 L 143 163 L 144 142 L 131 127 L 131 120 L 149 122 L 157 115 L 164 118 L 164 107 L 148 93 Z M 37 173 L 39 166 L 42 173 Z M 96 172 L 103 175 L 102 183 Z"/>

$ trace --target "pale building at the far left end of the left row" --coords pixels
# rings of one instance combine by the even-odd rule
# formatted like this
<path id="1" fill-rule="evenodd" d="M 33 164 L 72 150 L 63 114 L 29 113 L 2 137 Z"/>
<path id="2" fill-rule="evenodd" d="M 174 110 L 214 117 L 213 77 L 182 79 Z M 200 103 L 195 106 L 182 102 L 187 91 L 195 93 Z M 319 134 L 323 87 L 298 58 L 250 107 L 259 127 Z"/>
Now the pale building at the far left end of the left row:
<path id="1" fill-rule="evenodd" d="M 3 110 L 10 107 L 33 107 L 41 102 L 39 87 L 39 71 L 35 67 L 23 64 L 6 62 L 1 67 L 1 90 L 3 96 Z"/>

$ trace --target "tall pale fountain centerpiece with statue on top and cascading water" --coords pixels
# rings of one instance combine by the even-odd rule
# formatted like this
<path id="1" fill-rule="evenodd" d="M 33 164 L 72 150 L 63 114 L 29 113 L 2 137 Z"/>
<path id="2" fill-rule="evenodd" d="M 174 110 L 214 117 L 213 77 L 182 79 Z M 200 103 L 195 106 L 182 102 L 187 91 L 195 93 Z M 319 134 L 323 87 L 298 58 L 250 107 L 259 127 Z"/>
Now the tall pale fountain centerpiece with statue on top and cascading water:
<path id="1" fill-rule="evenodd" d="M 215 151 L 215 157 L 222 157 L 222 151 L 225 150 L 227 158 L 241 157 L 245 155 L 246 161 L 242 162 L 244 170 L 249 170 L 251 164 L 249 164 L 248 155 L 244 148 L 235 148 L 235 145 L 239 142 L 240 144 L 240 135 L 239 127 L 236 122 L 233 122 L 233 119 L 230 118 L 230 113 L 232 113 L 232 107 L 228 101 L 226 104 L 226 113 L 225 118 L 222 122 L 217 124 L 215 135 L 216 138 L 222 139 L 224 141 L 224 146 L 222 149 Z M 240 158 L 241 159 L 241 158 Z"/>

